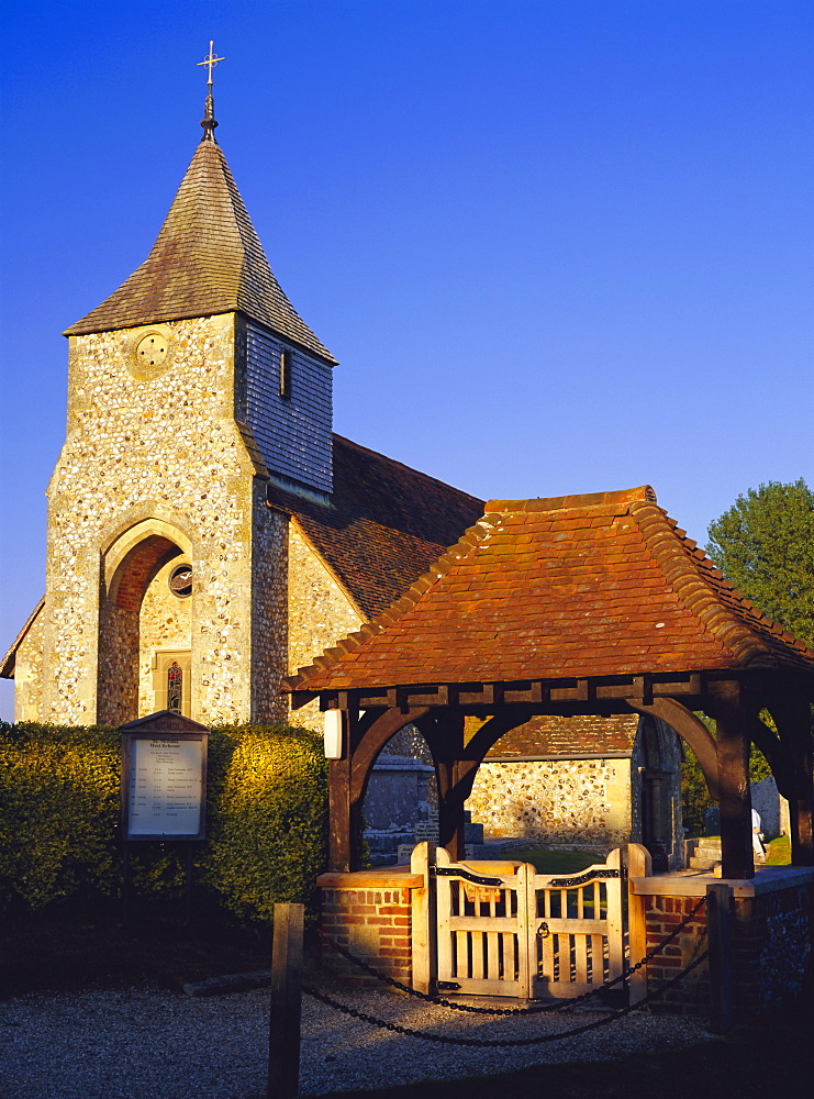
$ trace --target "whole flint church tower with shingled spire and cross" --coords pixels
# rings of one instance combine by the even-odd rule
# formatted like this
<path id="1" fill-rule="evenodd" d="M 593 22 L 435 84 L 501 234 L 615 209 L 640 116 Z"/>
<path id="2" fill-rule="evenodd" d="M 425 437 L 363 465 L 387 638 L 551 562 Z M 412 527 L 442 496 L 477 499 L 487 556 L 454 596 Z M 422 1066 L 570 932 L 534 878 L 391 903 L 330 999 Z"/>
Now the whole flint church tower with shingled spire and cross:
<path id="1" fill-rule="evenodd" d="M 147 259 L 66 332 L 45 721 L 283 715 L 287 517 L 267 497 L 330 500 L 335 359 L 275 279 L 215 141 L 211 65 L 201 124 Z"/>

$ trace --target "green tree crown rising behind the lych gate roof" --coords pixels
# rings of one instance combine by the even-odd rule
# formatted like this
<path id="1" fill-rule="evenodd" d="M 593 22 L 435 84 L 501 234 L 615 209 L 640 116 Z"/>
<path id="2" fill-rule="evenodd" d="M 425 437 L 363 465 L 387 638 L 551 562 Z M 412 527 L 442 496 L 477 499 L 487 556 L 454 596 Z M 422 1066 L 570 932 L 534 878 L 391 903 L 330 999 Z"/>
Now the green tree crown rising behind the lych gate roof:
<path id="1" fill-rule="evenodd" d="M 814 647 L 814 492 L 768 481 L 710 524 L 706 552 L 765 614 Z"/>

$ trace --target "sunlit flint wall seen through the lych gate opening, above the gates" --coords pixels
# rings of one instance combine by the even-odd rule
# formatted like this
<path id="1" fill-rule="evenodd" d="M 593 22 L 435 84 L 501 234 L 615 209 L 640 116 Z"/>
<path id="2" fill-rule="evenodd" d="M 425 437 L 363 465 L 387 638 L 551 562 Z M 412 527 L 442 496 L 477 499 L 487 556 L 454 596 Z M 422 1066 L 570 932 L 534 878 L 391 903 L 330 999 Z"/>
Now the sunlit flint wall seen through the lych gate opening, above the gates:
<path id="1" fill-rule="evenodd" d="M 486 761 L 467 809 L 491 835 L 604 854 L 631 839 L 631 761 Z"/>

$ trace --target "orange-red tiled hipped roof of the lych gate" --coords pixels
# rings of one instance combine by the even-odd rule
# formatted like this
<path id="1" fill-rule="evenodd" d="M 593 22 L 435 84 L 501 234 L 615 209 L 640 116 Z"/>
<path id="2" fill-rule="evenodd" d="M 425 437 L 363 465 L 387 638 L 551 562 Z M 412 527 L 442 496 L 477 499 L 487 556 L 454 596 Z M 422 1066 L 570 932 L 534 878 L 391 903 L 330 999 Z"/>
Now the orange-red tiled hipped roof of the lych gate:
<path id="1" fill-rule="evenodd" d="M 373 623 L 291 689 L 793 667 L 814 652 L 763 618 L 649 487 L 491 502 Z"/>

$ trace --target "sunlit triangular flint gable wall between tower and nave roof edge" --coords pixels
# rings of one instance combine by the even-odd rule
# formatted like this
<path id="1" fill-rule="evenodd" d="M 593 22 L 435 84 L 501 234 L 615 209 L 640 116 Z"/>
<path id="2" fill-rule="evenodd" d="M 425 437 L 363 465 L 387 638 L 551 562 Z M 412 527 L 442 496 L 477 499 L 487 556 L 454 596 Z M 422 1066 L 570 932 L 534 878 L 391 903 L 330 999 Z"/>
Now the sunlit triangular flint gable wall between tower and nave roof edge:
<path id="1" fill-rule="evenodd" d="M 289 525 L 288 621 L 289 675 L 365 622 L 294 522 Z M 322 729 L 316 701 L 291 717 L 297 724 Z"/>

